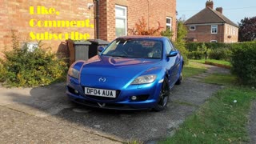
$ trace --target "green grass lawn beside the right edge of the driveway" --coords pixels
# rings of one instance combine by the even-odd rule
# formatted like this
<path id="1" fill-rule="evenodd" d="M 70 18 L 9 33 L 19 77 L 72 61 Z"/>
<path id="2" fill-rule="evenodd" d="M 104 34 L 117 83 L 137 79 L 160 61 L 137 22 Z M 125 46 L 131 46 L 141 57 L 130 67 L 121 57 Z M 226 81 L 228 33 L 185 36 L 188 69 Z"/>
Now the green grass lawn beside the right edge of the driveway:
<path id="1" fill-rule="evenodd" d="M 230 74 L 211 74 L 203 82 L 225 85 L 176 131 L 159 143 L 249 143 L 247 115 L 256 90 L 234 86 Z"/>

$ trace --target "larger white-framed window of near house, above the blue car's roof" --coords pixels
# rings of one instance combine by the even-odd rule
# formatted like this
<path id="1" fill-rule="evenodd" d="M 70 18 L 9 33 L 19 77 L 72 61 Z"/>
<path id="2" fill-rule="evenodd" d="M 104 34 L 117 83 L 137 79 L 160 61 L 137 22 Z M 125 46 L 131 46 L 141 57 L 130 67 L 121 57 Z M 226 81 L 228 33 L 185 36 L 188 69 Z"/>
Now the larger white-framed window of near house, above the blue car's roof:
<path id="1" fill-rule="evenodd" d="M 115 36 L 127 35 L 127 8 L 115 6 Z"/>

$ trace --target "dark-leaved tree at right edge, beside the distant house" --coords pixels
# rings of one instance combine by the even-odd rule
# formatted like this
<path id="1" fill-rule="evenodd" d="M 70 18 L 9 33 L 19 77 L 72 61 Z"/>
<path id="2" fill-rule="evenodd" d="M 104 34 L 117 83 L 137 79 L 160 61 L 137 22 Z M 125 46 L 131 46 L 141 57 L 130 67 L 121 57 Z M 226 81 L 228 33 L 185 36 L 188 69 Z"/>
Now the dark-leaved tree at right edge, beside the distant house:
<path id="1" fill-rule="evenodd" d="M 239 42 L 254 41 L 256 39 L 256 17 L 244 18 L 239 26 Z"/>

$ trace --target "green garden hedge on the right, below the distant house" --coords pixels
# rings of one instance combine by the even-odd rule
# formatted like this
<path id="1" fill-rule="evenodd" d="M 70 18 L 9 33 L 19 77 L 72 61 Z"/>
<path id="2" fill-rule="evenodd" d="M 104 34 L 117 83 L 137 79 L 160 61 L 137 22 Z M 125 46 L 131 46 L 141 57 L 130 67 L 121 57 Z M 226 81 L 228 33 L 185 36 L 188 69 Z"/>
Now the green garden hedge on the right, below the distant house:
<path id="1" fill-rule="evenodd" d="M 189 58 L 203 58 L 202 50 L 206 46 L 206 54 L 210 59 L 222 59 L 231 62 L 231 72 L 238 76 L 244 84 L 256 85 L 256 41 L 239 43 L 189 42 L 186 50 Z"/>

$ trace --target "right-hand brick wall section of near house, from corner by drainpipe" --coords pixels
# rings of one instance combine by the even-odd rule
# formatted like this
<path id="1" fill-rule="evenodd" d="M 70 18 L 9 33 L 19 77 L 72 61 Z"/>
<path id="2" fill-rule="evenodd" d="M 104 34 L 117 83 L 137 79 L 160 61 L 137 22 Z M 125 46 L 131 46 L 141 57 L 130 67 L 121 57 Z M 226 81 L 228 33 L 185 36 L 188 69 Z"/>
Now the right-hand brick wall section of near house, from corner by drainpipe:
<path id="1" fill-rule="evenodd" d="M 100 12 L 100 38 L 112 41 L 115 36 L 115 11 L 114 6 L 127 7 L 127 29 L 133 29 L 138 19 L 145 18 L 148 26 L 164 27 L 166 29 L 166 17 L 171 17 L 172 30 L 176 38 L 176 0 L 101 0 Z"/>

